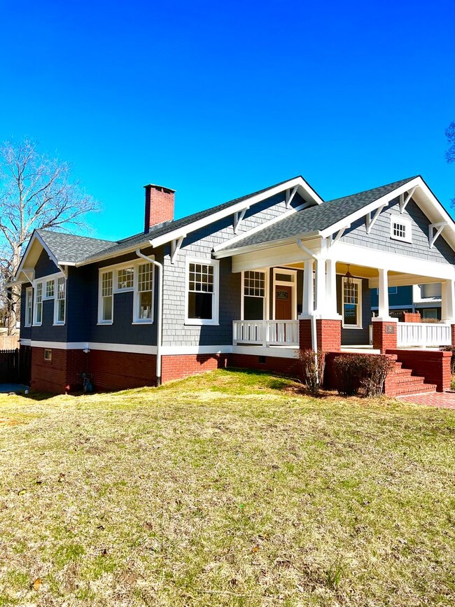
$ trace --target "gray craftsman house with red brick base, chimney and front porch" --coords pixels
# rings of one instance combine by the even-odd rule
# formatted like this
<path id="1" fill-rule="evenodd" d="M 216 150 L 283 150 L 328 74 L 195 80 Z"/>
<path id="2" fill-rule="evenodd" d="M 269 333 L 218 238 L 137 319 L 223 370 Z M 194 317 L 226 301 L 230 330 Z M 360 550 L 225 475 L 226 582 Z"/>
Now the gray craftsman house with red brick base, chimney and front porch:
<path id="1" fill-rule="evenodd" d="M 398 361 L 454 339 L 455 225 L 421 176 L 326 202 L 297 176 L 177 220 L 174 190 L 145 191 L 132 237 L 32 235 L 16 280 L 33 389 L 76 389 L 83 373 L 97 389 L 225 366 L 295 373 L 300 348 L 353 351 L 370 333 Z M 389 288 L 421 284 L 442 285 L 442 321 L 398 322 Z M 437 368 L 445 389 L 439 354 L 406 364 Z"/>

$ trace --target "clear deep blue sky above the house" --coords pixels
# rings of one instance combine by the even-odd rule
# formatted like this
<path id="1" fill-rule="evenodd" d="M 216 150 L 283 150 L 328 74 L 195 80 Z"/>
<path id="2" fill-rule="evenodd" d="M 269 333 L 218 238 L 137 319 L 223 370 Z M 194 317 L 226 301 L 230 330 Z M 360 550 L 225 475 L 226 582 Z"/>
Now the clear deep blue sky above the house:
<path id="1" fill-rule="evenodd" d="M 98 237 L 143 228 L 149 182 L 176 217 L 296 174 L 326 200 L 414 174 L 455 195 L 453 0 L 0 9 L 0 141 L 69 160 Z"/>

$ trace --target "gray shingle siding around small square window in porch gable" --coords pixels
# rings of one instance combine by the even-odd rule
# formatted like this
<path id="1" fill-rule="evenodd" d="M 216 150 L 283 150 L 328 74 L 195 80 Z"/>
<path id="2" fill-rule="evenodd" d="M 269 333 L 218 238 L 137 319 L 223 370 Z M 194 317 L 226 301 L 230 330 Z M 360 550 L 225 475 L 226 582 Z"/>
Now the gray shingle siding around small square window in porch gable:
<path id="1" fill-rule="evenodd" d="M 412 242 L 402 242 L 391 239 L 391 215 L 410 219 L 412 221 Z M 440 236 L 430 249 L 428 241 L 428 225 L 430 221 L 423 214 L 414 200 L 410 200 L 402 215 L 400 215 L 400 202 L 395 198 L 384 211 L 381 212 L 374 223 L 370 234 L 365 228 L 365 218 L 360 218 L 344 232 L 340 239 L 342 242 L 366 246 L 368 249 L 398 253 L 414 258 L 421 258 L 438 263 L 454 263 L 455 254 L 451 246 Z M 418 272 L 416 272 L 418 273 Z"/>

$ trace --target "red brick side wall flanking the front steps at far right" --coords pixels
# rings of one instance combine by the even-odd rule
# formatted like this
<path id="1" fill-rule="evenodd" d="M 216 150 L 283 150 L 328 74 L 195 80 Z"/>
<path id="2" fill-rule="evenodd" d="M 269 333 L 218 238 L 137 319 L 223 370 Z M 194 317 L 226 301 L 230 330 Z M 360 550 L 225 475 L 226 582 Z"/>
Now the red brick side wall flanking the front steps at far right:
<path id="1" fill-rule="evenodd" d="M 425 379 L 426 384 L 435 384 L 437 392 L 450 389 L 451 352 L 441 350 L 387 350 L 386 354 L 396 354 L 403 368 L 412 369 L 413 375 Z"/>

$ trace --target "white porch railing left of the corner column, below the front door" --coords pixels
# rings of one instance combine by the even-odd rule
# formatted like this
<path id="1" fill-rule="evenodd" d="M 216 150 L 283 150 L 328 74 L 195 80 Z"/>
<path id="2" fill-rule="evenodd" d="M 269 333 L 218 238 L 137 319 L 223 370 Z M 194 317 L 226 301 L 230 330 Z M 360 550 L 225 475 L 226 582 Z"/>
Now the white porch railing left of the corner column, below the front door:
<path id="1" fill-rule="evenodd" d="M 233 321 L 235 346 L 299 346 L 299 321 Z"/>

